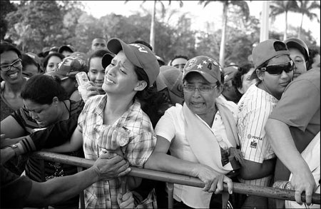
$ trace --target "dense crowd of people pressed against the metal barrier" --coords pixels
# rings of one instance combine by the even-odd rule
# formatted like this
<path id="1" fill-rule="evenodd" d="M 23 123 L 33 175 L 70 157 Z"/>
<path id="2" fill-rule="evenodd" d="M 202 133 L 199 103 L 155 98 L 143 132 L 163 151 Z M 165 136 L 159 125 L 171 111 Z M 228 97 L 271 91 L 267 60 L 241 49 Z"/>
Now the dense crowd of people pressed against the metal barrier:
<path id="1" fill-rule="evenodd" d="M 300 39 L 260 42 L 224 68 L 202 54 L 166 65 L 145 41 L 102 37 L 88 53 L 1 41 L 0 56 L 1 208 L 78 208 L 81 191 L 86 208 L 167 208 L 170 188 L 130 166 L 203 181 L 175 184 L 173 208 L 300 208 L 302 192 L 320 208 L 320 52 Z M 34 151 L 95 163 L 42 167 Z M 292 189 L 295 202 L 233 182 Z"/>

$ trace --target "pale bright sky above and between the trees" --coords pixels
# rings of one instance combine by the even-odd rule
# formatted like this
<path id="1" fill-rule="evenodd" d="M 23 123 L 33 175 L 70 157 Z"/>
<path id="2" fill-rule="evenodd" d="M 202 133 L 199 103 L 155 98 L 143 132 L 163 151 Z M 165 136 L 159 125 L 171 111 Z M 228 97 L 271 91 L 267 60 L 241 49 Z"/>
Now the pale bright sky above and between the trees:
<path id="1" fill-rule="evenodd" d="M 81 1 L 85 6 L 85 11 L 88 14 L 100 18 L 106 14 L 121 14 L 123 16 L 129 16 L 134 14 L 136 11 L 143 8 L 152 11 L 153 1 L 146 1 L 142 4 L 143 1 L 128 1 L 124 4 L 125 1 Z M 165 7 L 168 7 L 168 1 L 162 1 Z M 260 19 L 260 11 L 262 11 L 263 1 L 248 1 L 250 8 L 250 15 L 253 15 Z M 161 5 L 156 4 L 156 8 L 160 9 Z M 198 5 L 198 1 L 183 1 L 183 7 L 180 8 L 178 1 L 171 1 L 171 9 L 178 9 L 180 12 L 178 14 L 183 14 L 184 12 L 189 12 L 192 20 L 192 29 L 195 30 L 204 30 L 205 22 L 216 22 L 219 26 L 221 25 L 221 16 L 223 13 L 223 4 L 219 2 L 213 2 L 208 4 L 205 8 L 202 5 Z M 320 10 L 314 11 L 320 19 Z M 292 26 L 300 26 L 301 15 L 294 14 L 290 12 L 288 14 L 288 24 Z M 175 16 L 172 19 L 172 22 L 175 24 Z M 289 28 L 289 27 L 288 27 Z M 320 46 L 320 23 L 317 23 L 317 20 L 310 21 L 307 16 L 303 19 L 303 28 L 305 30 L 310 29 L 312 31 L 312 36 L 317 41 L 317 45 Z M 277 31 L 284 31 L 285 29 L 285 14 L 277 16 L 275 22 L 270 24 L 270 29 Z"/>

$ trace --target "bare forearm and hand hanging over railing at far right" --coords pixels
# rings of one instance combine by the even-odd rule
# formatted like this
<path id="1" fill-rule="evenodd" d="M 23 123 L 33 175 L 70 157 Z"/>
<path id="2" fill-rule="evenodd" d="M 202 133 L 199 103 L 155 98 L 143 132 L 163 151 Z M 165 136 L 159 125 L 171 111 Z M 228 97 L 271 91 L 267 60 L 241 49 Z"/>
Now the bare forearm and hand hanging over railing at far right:
<path id="1" fill-rule="evenodd" d="M 267 139 L 282 163 L 292 172 L 291 185 L 295 189 L 295 200 L 302 204 L 301 193 L 305 191 L 306 203 L 311 204 L 312 193 L 317 185 L 309 166 L 295 147 L 287 124 L 272 118 L 265 125 Z"/>

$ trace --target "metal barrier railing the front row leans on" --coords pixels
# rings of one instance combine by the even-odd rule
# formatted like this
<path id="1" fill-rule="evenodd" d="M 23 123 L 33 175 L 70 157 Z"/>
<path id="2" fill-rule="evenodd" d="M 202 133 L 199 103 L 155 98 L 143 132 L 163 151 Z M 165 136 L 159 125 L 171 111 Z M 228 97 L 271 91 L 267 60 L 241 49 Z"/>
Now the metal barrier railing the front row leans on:
<path id="1" fill-rule="evenodd" d="M 78 167 L 78 171 L 81 171 L 82 168 L 90 168 L 94 160 L 88 160 L 86 158 L 77 158 L 73 156 L 66 156 L 58 153 L 49 153 L 49 152 L 35 152 L 32 154 L 32 157 L 39 158 L 42 160 L 49 160 L 58 163 L 64 163 L 68 165 L 75 165 Z M 44 166 L 44 163 L 41 163 L 41 166 Z M 42 167 L 44 170 L 44 167 Z M 144 168 L 135 168 L 131 167 L 131 173 L 128 175 L 147 178 L 151 180 L 164 181 L 170 185 L 170 188 L 173 188 L 173 184 L 181 185 L 190 185 L 198 188 L 203 188 L 205 184 L 198 178 L 190 177 L 188 175 L 179 175 L 175 173 L 166 173 L 158 170 L 149 170 Z M 224 183 L 224 191 L 228 191 L 228 185 Z M 244 183 L 233 183 L 233 193 L 248 194 L 248 195 L 257 195 L 265 198 L 275 198 L 280 200 L 291 200 L 295 201 L 295 191 L 294 190 L 284 190 L 280 188 L 270 188 L 257 185 L 248 185 Z M 305 193 L 301 195 L 301 199 L 305 202 Z M 81 193 L 81 208 L 83 205 L 83 193 Z M 314 193 L 312 195 L 312 203 L 320 205 L 320 194 Z M 173 208 L 173 190 L 168 190 L 168 208 Z"/>

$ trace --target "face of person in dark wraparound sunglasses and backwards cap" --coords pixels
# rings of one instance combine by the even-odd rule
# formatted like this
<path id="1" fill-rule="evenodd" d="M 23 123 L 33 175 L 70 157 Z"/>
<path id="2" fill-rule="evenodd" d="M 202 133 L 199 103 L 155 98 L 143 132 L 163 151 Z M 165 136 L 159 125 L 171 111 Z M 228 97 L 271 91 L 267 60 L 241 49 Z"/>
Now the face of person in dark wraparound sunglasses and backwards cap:
<path id="1" fill-rule="evenodd" d="M 287 66 L 290 61 L 288 56 L 279 56 L 272 58 L 267 65 Z M 262 81 L 259 85 L 263 86 L 263 90 L 270 93 L 277 99 L 280 99 L 285 87 L 292 81 L 293 71 L 286 73 L 282 71 L 279 75 L 270 74 L 267 71 L 261 72 L 259 76 Z"/>

